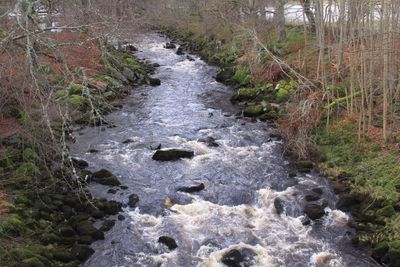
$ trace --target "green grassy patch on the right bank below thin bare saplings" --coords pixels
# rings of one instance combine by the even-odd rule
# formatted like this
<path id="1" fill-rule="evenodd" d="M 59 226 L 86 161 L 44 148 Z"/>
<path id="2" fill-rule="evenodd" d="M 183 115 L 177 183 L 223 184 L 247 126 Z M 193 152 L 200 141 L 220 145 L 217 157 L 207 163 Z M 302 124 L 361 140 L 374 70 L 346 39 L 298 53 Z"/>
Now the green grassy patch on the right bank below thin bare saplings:
<path id="1" fill-rule="evenodd" d="M 399 240 L 399 151 L 382 149 L 368 139 L 358 140 L 356 133 L 354 123 L 348 121 L 319 131 L 317 143 L 325 159 L 322 170 L 349 183 L 352 193 L 366 196 L 361 213 L 383 222 L 372 231 L 359 233 L 363 242 L 377 245 Z"/>

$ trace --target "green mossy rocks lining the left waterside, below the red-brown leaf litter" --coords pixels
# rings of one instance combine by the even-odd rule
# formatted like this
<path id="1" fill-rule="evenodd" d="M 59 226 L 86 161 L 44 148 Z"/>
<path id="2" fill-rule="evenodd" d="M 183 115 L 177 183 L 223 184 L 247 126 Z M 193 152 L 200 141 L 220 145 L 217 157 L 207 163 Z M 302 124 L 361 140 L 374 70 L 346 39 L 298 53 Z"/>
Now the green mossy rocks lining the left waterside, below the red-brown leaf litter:
<path id="1" fill-rule="evenodd" d="M 118 179 L 86 171 L 85 161 L 69 155 L 67 141 L 77 124 L 112 127 L 105 115 L 121 106 L 133 86 L 160 84 L 149 76 L 155 66 L 139 62 L 132 50 L 108 46 L 98 59 L 104 71 L 87 77 L 77 70 L 74 82 L 49 71 L 52 99 L 68 114 L 50 121 L 62 147 L 44 149 L 32 141 L 26 134 L 32 118 L 12 107 L 22 130 L 0 140 L 1 266 L 79 266 L 94 253 L 90 244 L 123 219 L 117 216 L 122 203 L 94 199 L 86 189 L 89 182 L 117 185 Z"/>

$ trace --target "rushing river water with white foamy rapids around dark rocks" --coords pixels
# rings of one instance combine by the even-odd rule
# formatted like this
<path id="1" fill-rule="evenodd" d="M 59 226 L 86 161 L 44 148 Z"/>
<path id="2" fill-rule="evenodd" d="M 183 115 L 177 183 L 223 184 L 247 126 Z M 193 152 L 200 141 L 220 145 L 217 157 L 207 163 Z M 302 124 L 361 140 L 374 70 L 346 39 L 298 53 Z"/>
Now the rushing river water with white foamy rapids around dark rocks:
<path id="1" fill-rule="evenodd" d="M 217 68 L 178 56 L 165 42 L 156 34 L 136 41 L 139 58 L 161 65 L 155 76 L 162 85 L 134 89 L 108 116 L 115 128 L 81 129 L 72 145 L 91 170 L 106 168 L 129 187 L 108 194 L 108 187 L 93 183 L 93 195 L 123 203 L 132 193 L 140 197 L 137 208 L 124 208 L 126 219 L 93 244 L 96 253 L 85 266 L 225 266 L 221 257 L 232 249 L 246 255 L 242 266 L 375 266 L 351 246 L 349 216 L 335 210 L 327 182 L 316 173 L 289 177 L 271 126 L 236 118 L 233 90 L 213 78 Z M 201 142 L 207 137 L 219 146 Z M 159 144 L 195 157 L 153 161 Z M 198 183 L 205 185 L 201 192 L 177 190 Z M 327 215 L 303 225 L 304 197 L 316 187 L 323 188 Z M 285 207 L 281 215 L 276 197 Z M 170 251 L 160 236 L 174 238 L 178 248 Z"/>

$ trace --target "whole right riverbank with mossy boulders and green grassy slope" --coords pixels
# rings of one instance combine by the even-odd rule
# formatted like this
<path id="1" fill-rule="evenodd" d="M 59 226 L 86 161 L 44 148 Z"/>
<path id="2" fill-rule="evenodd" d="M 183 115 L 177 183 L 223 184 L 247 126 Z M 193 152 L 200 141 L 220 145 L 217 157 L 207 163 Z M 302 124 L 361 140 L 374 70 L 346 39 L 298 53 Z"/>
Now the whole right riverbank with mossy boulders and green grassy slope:
<path id="1" fill-rule="evenodd" d="M 266 71 L 270 82 L 260 82 L 257 71 L 252 73 L 248 65 L 241 64 L 243 58 L 251 57 L 245 47 L 235 38 L 206 36 L 185 29 L 166 29 L 165 33 L 182 48 L 198 53 L 204 60 L 222 68 L 217 80 L 236 88 L 232 102 L 239 103 L 243 115 L 262 121 L 274 121 L 278 129 L 284 128 L 282 135 L 288 138 L 287 130 L 293 125 L 285 123 L 286 103 L 293 101 L 299 83 L 288 79 L 284 70 L 266 62 L 261 69 Z M 293 33 L 301 36 L 301 32 Z M 299 38 L 302 40 L 302 38 Z M 299 40 L 297 40 L 299 41 Z M 301 41 L 300 41 L 301 43 Z M 286 47 L 296 45 L 296 38 L 289 38 Z M 289 53 L 284 58 L 290 59 Z M 313 64 L 311 64 L 310 68 Z M 275 68 L 275 69 L 274 69 Z M 322 113 L 321 110 L 317 112 Z M 310 118 L 311 119 L 311 118 Z M 309 158 L 298 161 L 297 167 L 317 166 L 331 182 L 340 200 L 336 206 L 349 211 L 353 220 L 349 225 L 357 230 L 353 243 L 356 246 L 372 247 L 371 256 L 381 263 L 398 266 L 400 219 L 399 206 L 399 151 L 393 146 L 382 146 L 379 141 L 357 136 L 355 120 L 343 115 L 337 116 L 328 127 L 323 123 L 311 122 L 306 129 L 312 133 L 314 152 Z M 299 125 L 302 127 L 302 125 Z M 378 129 L 377 129 L 378 130 Z M 297 130 L 296 130 L 297 131 Z M 290 144 L 290 140 L 287 143 Z M 293 147 L 289 147 L 289 157 L 296 160 Z M 295 151 L 296 152 L 296 151 Z M 310 163 L 312 160 L 313 163 Z M 307 169 L 307 168 L 306 168 Z M 307 170 L 306 170 L 307 171 Z"/>

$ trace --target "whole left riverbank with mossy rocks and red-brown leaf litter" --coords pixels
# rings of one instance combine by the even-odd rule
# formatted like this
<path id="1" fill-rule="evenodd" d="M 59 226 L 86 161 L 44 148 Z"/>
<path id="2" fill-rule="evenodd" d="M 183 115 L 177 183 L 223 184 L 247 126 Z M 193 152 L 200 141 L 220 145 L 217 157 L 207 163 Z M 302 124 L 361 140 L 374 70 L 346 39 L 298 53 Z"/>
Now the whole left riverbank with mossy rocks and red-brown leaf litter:
<path id="1" fill-rule="evenodd" d="M 90 244 L 104 239 L 120 219 L 122 203 L 94 199 L 86 184 L 119 182 L 112 174 L 92 175 L 86 171 L 87 162 L 72 158 L 70 134 L 76 127 L 113 127 L 104 116 L 121 107 L 132 87 L 160 84 L 149 76 L 155 66 L 136 60 L 132 45 L 118 51 L 82 33 L 49 33 L 46 38 L 63 47 L 35 48 L 43 55 L 35 77 L 49 88 L 43 93 L 48 98 L 49 128 L 37 127 L 45 118 L 36 98 L 18 102 L 24 95 L 14 91 L 2 107 L 6 111 L 1 123 L 9 127 L 2 128 L 0 140 L 1 266 L 79 266 L 94 253 Z M 23 51 L 9 51 L 23 64 Z M 1 61 L 7 60 L 2 54 Z M 12 72 L 18 63 L 10 66 Z M 20 85 L 25 95 L 31 94 L 35 88 L 22 83 L 23 75 L 16 72 L 12 86 Z"/>

